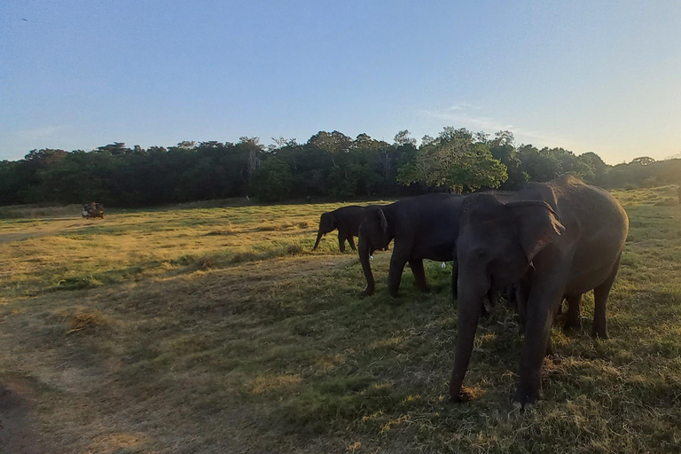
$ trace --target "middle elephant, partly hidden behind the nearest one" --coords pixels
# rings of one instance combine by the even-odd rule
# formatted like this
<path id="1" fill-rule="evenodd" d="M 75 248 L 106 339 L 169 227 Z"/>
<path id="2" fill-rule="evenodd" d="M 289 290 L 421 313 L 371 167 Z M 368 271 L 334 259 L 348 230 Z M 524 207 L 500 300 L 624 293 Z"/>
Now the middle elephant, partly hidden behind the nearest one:
<path id="1" fill-rule="evenodd" d="M 366 278 L 366 288 L 361 295 L 373 294 L 375 287 L 370 256 L 375 250 L 387 247 L 393 239 L 395 243 L 387 277 L 388 292 L 391 296 L 397 296 L 407 262 L 417 286 L 427 292 L 429 287 L 423 259 L 448 262 L 456 258 L 452 254 L 456 247 L 458 211 L 462 200 L 464 198 L 458 195 L 437 193 L 399 200 L 382 207 L 366 207 L 359 227 L 359 261 Z M 455 280 L 452 285 L 456 286 Z"/>

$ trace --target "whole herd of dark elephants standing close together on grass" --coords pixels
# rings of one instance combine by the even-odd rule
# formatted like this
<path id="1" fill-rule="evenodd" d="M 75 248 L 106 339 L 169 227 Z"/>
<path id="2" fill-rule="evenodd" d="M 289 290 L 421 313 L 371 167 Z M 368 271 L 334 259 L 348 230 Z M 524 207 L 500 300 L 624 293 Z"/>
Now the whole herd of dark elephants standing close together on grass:
<path id="1" fill-rule="evenodd" d="M 608 192 L 574 176 L 527 184 L 517 192 L 467 196 L 428 194 L 384 206 L 341 207 L 321 217 L 321 237 L 338 229 L 356 250 L 374 291 L 370 257 L 393 241 L 387 288 L 396 296 L 406 263 L 427 291 L 423 260 L 452 261 L 452 292 L 458 300 L 458 333 L 450 398 L 470 398 L 462 387 L 474 347 L 478 318 L 490 294 L 509 293 L 524 333 L 520 383 L 513 403 L 528 408 L 542 392 L 544 355 L 562 301 L 567 325 L 578 325 L 582 295 L 594 292 L 593 335 L 607 338 L 606 302 L 629 231 L 622 205 Z"/>

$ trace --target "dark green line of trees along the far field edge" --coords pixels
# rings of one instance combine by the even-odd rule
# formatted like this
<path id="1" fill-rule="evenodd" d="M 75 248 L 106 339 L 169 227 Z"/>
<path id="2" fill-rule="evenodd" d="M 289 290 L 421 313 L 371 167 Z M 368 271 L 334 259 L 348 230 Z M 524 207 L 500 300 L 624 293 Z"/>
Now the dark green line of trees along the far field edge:
<path id="1" fill-rule="evenodd" d="M 638 158 L 608 166 L 595 153 L 514 144 L 446 127 L 418 146 L 407 130 L 393 143 L 320 131 L 305 144 L 257 137 L 239 142 L 182 142 L 143 149 L 123 143 L 90 152 L 32 150 L 23 160 L 0 161 L 0 205 L 84 203 L 140 207 L 251 196 L 260 200 L 324 197 L 398 197 L 431 191 L 518 189 L 565 173 L 607 188 L 677 184 L 681 160 Z"/>

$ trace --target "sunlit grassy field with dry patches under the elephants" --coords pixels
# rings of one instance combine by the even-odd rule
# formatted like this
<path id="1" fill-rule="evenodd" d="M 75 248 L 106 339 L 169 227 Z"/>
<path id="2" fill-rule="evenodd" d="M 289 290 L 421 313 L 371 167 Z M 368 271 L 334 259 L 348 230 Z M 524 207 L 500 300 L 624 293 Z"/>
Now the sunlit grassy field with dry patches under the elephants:
<path id="1" fill-rule="evenodd" d="M 450 266 L 427 263 L 431 294 L 406 270 L 393 300 L 377 253 L 359 299 L 356 254 L 334 233 L 310 251 L 336 205 L 0 216 L 0 452 L 678 452 L 676 186 L 615 195 L 610 339 L 589 335 L 590 294 L 524 414 L 513 312 L 481 321 L 476 397 L 449 403 Z"/>

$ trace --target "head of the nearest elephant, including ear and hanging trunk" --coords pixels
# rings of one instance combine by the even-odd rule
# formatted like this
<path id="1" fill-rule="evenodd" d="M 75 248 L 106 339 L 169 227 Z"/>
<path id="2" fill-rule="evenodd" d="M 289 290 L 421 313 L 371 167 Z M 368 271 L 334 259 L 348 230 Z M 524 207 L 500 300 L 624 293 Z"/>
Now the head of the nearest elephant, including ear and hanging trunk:
<path id="1" fill-rule="evenodd" d="M 458 335 L 450 396 L 458 400 L 473 350 L 482 300 L 492 288 L 519 281 L 544 247 L 565 227 L 541 200 L 503 203 L 489 194 L 474 194 L 461 207 L 458 259 Z"/>

